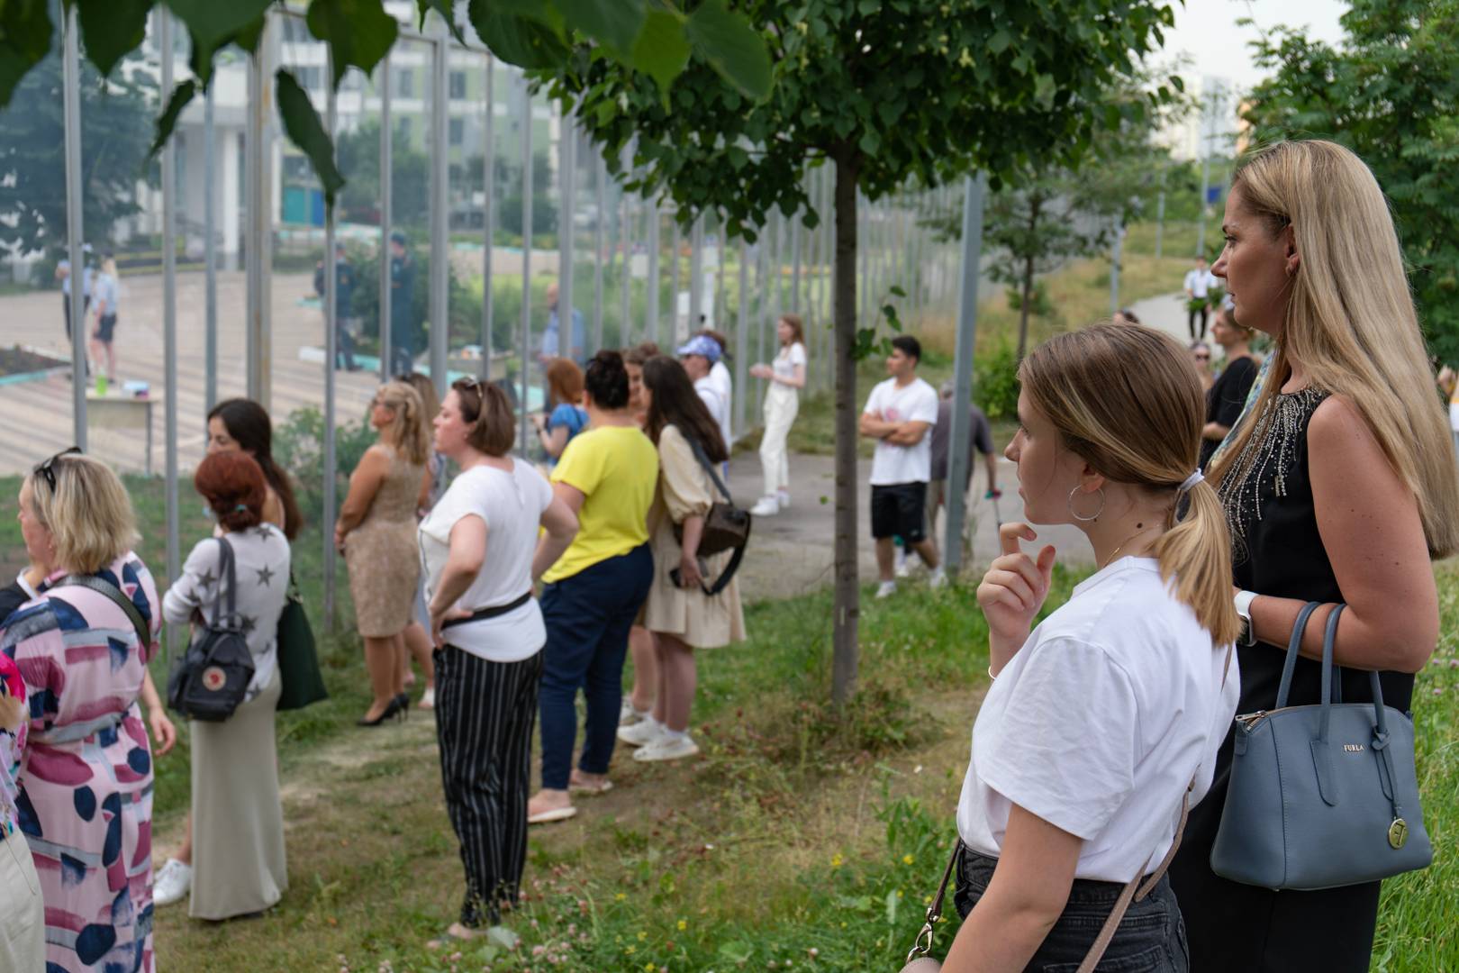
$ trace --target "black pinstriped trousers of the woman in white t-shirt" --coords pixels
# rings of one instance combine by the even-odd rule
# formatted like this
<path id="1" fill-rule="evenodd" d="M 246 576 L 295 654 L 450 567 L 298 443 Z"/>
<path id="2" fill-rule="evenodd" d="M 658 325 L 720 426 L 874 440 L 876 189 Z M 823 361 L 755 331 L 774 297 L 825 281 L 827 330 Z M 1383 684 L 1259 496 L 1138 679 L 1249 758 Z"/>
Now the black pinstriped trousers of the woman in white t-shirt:
<path id="1" fill-rule="evenodd" d="M 500 922 L 521 888 L 543 654 L 489 662 L 448 645 L 433 658 L 441 783 L 465 868 L 461 925 L 476 929 Z"/>

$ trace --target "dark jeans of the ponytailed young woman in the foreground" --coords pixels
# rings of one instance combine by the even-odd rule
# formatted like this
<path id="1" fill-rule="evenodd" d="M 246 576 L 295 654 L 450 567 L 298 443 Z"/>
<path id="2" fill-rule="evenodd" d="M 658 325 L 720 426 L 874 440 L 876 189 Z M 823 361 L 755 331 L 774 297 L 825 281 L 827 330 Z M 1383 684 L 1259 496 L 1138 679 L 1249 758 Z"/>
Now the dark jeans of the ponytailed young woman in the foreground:
<path id="1" fill-rule="evenodd" d="M 988 891 L 996 858 L 963 849 L 957 862 L 957 891 L 953 902 L 957 915 L 967 918 L 973 906 Z M 1112 881 L 1075 878 L 1064 915 L 1043 939 L 1043 945 L 1029 960 L 1026 973 L 1075 973 L 1090 951 L 1104 920 L 1109 919 L 1122 885 Z M 1163 875 L 1150 894 L 1129 903 L 1104 957 L 1094 967 L 1097 973 L 1188 973 L 1191 957 L 1186 950 L 1185 922 L 1170 877 Z"/>

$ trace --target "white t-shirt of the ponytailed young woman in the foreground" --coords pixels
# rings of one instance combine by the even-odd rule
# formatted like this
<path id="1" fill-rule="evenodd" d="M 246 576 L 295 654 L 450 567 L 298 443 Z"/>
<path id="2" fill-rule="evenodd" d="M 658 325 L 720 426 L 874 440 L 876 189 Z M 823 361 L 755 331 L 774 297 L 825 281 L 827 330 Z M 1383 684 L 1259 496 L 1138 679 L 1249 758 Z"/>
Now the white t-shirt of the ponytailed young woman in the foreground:
<path id="1" fill-rule="evenodd" d="M 1211 788 L 1236 715 L 1234 658 L 1123 557 L 1074 589 L 994 680 L 973 724 L 957 830 L 998 856 L 1013 804 L 1084 839 L 1075 878 L 1129 881 L 1174 840 L 1180 796 Z"/>

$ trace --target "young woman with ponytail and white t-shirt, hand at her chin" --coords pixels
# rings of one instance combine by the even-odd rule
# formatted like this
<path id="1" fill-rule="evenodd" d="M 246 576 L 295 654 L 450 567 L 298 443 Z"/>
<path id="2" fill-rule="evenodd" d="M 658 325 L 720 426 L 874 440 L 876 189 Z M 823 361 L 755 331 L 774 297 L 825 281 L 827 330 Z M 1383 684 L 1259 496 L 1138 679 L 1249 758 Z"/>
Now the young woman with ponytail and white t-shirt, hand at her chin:
<path id="1" fill-rule="evenodd" d="M 1226 519 L 1195 471 L 1204 397 L 1179 343 L 1128 324 L 1061 334 L 1018 378 L 1007 457 L 1024 516 L 1083 530 L 1097 572 L 1030 633 L 1055 550 L 1023 553 L 1037 534 L 1005 524 L 978 588 L 994 684 L 957 807 L 964 922 L 944 969 L 1074 970 L 1122 887 L 1160 874 L 1104 961 L 1186 970 L 1163 871 L 1239 689 Z"/>

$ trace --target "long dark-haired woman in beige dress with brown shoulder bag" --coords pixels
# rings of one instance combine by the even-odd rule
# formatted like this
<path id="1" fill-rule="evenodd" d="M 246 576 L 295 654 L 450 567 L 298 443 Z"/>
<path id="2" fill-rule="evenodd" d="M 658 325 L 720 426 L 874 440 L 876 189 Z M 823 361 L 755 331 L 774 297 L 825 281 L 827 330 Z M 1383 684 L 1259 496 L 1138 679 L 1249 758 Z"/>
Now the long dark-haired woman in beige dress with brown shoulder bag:
<path id="1" fill-rule="evenodd" d="M 654 633 L 658 691 L 654 712 L 642 722 L 619 729 L 619 740 L 635 744 L 635 760 L 680 760 L 699 753 L 689 735 L 689 710 L 699 681 L 696 649 L 744 640 L 740 582 L 724 591 L 708 588 L 724 572 L 731 553 L 699 557 L 705 518 L 725 499 L 711 478 L 708 464 L 728 458 L 719 426 L 700 401 L 684 366 L 667 356 L 643 365 L 643 432 L 658 446 L 658 489 L 648 513 L 654 551 L 654 585 L 643 607 L 643 627 Z M 694 455 L 697 443 L 703 460 Z M 711 467 L 712 468 L 712 467 Z M 683 543 L 674 535 L 680 528 Z"/>

